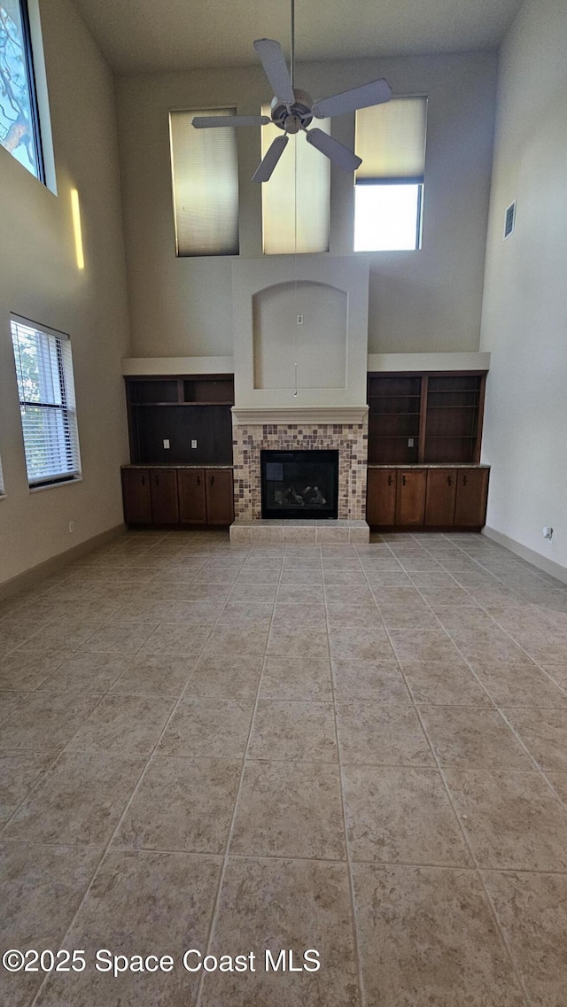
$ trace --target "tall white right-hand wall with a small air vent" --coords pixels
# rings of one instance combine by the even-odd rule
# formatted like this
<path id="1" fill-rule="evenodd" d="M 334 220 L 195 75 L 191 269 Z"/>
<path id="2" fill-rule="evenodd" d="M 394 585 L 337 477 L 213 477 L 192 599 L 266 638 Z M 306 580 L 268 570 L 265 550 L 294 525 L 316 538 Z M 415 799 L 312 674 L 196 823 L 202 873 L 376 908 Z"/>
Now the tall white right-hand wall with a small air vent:
<path id="1" fill-rule="evenodd" d="M 481 348 L 487 526 L 567 567 L 567 5 L 526 0 L 502 55 Z M 506 207 L 516 231 L 503 241 Z M 552 543 L 542 527 L 555 529 Z"/>

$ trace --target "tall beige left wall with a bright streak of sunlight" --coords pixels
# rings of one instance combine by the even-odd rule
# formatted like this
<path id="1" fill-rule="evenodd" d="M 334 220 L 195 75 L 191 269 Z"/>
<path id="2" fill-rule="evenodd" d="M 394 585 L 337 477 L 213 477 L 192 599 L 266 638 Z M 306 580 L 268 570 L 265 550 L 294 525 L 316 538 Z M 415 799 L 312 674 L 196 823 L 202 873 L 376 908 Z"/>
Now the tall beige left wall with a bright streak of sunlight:
<path id="1" fill-rule="evenodd" d="M 0 147 L 0 582 L 121 523 L 127 460 L 120 359 L 128 320 L 110 70 L 68 0 L 41 4 L 57 192 Z M 70 189 L 86 268 L 76 262 Z M 72 337 L 83 481 L 29 492 L 9 314 Z M 75 521 L 76 532 L 68 533 Z"/>

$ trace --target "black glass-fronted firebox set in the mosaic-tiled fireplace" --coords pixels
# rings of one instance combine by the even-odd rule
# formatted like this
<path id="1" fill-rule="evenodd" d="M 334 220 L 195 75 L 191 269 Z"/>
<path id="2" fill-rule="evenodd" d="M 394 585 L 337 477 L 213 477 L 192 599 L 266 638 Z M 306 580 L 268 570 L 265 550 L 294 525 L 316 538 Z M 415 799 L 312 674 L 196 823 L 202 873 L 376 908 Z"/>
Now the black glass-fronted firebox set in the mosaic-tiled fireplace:
<path id="1" fill-rule="evenodd" d="M 336 518 L 338 451 L 261 451 L 262 517 Z"/>

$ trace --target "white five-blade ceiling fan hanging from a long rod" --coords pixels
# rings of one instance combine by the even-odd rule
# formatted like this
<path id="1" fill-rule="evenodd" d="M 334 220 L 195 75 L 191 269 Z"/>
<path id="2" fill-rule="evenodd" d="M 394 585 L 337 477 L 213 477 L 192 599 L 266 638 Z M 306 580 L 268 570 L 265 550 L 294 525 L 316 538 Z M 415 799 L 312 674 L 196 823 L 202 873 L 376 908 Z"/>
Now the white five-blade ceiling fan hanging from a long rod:
<path id="1" fill-rule="evenodd" d="M 252 180 L 267 182 L 272 176 L 280 157 L 282 156 L 290 135 L 305 133 L 305 139 L 311 146 L 320 150 L 325 157 L 343 171 L 355 171 L 363 162 L 351 150 L 334 140 L 328 133 L 318 128 L 307 129 L 313 119 L 325 119 L 330 116 L 341 116 L 357 109 L 366 109 L 370 105 L 380 105 L 392 98 L 390 85 L 384 78 L 371 81 L 359 88 L 342 91 L 331 95 L 320 102 L 313 99 L 306 91 L 293 87 L 294 77 L 294 0 L 291 2 L 291 68 L 288 73 L 285 56 L 279 42 L 272 38 L 259 38 L 254 42 L 254 48 L 260 56 L 264 73 L 274 92 L 271 105 L 271 117 L 268 116 L 195 116 L 192 125 L 195 129 L 219 129 L 224 126 L 266 126 L 274 123 L 283 130 L 284 136 L 278 136 L 269 147 L 263 160 L 258 165 Z"/>

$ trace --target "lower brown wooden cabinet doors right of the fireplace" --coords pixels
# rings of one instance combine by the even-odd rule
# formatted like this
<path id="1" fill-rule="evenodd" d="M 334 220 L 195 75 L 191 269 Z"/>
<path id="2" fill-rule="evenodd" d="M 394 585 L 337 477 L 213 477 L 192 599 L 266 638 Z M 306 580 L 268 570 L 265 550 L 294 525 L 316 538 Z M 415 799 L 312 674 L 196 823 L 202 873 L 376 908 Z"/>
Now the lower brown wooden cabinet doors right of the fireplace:
<path id="1" fill-rule="evenodd" d="M 370 468 L 367 521 L 375 528 L 482 528 L 488 468 Z"/>

